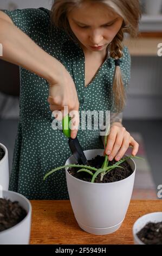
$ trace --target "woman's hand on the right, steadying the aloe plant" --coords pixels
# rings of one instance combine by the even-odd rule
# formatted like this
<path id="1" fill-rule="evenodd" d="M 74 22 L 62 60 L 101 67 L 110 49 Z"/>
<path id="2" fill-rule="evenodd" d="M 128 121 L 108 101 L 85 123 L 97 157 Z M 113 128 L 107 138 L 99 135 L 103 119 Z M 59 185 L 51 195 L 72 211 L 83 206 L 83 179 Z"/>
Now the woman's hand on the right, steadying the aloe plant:
<path id="1" fill-rule="evenodd" d="M 114 157 L 116 161 L 119 161 L 126 153 L 129 144 L 133 146 L 132 155 L 135 156 L 138 152 L 139 144 L 133 139 L 130 133 L 126 131 L 125 127 L 112 125 L 109 135 L 107 136 L 104 155 L 108 155 L 109 161 L 112 161 Z"/>

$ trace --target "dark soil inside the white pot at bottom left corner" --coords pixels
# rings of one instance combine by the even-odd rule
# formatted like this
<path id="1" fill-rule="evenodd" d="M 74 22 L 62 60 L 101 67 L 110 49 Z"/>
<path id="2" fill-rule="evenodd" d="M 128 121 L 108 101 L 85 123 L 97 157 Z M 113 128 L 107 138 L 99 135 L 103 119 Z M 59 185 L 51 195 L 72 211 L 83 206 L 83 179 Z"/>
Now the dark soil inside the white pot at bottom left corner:
<path id="1" fill-rule="evenodd" d="M 17 201 L 11 202 L 9 199 L 0 198 L 0 231 L 13 227 L 25 216 L 27 211 Z"/>

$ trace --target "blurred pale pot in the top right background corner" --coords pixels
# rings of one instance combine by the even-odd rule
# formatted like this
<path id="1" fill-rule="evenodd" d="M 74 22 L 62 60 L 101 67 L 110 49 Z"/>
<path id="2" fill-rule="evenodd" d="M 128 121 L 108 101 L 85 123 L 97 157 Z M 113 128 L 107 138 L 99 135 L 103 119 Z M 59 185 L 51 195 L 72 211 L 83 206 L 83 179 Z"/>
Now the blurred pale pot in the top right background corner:
<path id="1" fill-rule="evenodd" d="M 146 0 L 145 12 L 148 15 L 159 15 L 161 12 L 161 0 Z"/>

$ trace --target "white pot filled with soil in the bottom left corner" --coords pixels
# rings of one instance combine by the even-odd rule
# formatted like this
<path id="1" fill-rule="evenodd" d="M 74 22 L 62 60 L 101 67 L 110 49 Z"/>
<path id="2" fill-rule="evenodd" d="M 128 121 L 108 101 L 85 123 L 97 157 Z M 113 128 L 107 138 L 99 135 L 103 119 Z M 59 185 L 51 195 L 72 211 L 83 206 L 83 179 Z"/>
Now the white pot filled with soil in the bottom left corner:
<path id="1" fill-rule="evenodd" d="M 0 231 L 0 245 L 28 245 L 30 242 L 31 204 L 27 198 L 12 191 L 2 191 L 2 197 L 18 201 L 27 211 L 27 216 L 14 227 Z"/>

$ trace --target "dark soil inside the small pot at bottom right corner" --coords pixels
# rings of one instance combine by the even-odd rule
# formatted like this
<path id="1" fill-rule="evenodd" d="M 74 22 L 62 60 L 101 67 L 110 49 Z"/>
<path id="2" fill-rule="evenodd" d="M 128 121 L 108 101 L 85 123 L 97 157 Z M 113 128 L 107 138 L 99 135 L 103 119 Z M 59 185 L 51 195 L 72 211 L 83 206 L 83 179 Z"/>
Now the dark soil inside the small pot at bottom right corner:
<path id="1" fill-rule="evenodd" d="M 162 222 L 148 222 L 137 236 L 145 245 L 162 245 Z"/>

